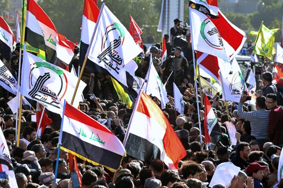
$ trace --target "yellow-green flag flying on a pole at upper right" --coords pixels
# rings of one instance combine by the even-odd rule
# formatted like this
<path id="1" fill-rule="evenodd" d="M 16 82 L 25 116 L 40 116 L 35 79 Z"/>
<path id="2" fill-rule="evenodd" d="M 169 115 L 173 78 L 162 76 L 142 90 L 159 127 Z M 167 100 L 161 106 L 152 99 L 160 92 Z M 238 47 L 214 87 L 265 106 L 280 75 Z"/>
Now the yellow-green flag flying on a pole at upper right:
<path id="1" fill-rule="evenodd" d="M 275 40 L 274 33 L 277 30 L 278 29 L 268 29 L 262 22 L 253 46 L 253 52 L 257 55 L 273 60 L 273 55 L 275 54 L 275 49 L 273 48 Z"/>

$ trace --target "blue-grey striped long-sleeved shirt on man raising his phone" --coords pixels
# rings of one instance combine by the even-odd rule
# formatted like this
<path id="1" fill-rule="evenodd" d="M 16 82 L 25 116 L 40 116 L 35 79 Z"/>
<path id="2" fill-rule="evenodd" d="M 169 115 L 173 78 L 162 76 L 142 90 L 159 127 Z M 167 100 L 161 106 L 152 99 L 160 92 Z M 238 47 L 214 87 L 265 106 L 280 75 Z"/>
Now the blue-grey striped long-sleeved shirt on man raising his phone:
<path id="1" fill-rule="evenodd" d="M 268 123 L 270 110 L 258 109 L 252 112 L 243 112 L 243 103 L 239 103 L 237 115 L 251 122 L 251 135 L 257 140 L 268 139 Z"/>

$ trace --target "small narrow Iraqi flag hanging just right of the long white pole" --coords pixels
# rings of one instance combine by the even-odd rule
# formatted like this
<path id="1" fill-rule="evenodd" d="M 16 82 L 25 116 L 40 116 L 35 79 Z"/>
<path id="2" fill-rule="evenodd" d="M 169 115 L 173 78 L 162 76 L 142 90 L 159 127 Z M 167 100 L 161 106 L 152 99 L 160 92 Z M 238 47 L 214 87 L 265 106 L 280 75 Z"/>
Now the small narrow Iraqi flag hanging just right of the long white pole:
<path id="1" fill-rule="evenodd" d="M 204 141 L 211 143 L 210 147 L 212 146 L 214 148 L 222 134 L 217 118 L 206 95 L 204 95 L 204 113 Z"/>

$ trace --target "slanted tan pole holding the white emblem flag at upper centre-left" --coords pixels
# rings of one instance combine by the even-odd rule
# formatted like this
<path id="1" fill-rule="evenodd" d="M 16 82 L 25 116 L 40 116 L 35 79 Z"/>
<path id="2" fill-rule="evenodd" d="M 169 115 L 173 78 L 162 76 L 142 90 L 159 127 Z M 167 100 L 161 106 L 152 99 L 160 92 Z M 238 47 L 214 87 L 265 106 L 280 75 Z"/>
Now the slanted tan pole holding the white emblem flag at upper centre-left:
<path id="1" fill-rule="evenodd" d="M 71 101 L 71 105 L 73 105 L 74 101 L 75 101 L 75 97 L 76 97 L 76 94 L 77 94 L 77 91 L 78 91 L 78 88 L 79 88 L 79 81 L 81 79 L 81 76 L 83 74 L 83 71 L 84 71 L 84 68 L 85 68 L 85 64 L 86 64 L 86 61 L 87 61 L 87 58 L 88 58 L 88 54 L 90 52 L 90 47 L 92 46 L 92 43 L 94 41 L 94 35 L 96 33 L 96 30 L 97 30 L 97 26 L 98 26 L 98 23 L 99 23 L 99 20 L 100 20 L 100 17 L 101 17 L 101 13 L 103 11 L 103 7 L 104 7 L 104 3 L 102 3 L 101 5 L 101 8 L 100 8 L 100 12 L 98 14 L 98 17 L 97 17 L 97 23 L 95 24 L 95 28 L 94 28 L 94 33 L 93 33 L 93 36 L 92 36 L 92 39 L 91 39 L 91 42 L 90 42 L 90 45 L 87 49 L 87 52 L 86 52 L 86 55 L 85 55 L 85 58 L 84 58 L 84 61 L 83 61 L 83 64 L 82 64 L 82 67 L 81 67 L 81 70 L 80 70 L 80 73 L 79 73 L 79 79 L 78 79 L 78 82 L 77 82 L 77 85 L 76 85 L 76 88 L 75 88 L 75 91 L 74 91 L 74 95 L 73 95 L 73 98 L 72 98 L 72 101 Z"/>

